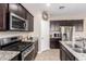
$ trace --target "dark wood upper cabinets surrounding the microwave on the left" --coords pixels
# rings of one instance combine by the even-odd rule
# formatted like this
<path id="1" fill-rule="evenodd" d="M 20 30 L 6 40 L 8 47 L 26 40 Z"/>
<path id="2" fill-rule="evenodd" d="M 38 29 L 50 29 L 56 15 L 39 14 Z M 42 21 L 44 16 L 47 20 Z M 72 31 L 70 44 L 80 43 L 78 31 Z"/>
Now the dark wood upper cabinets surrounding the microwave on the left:
<path id="1" fill-rule="evenodd" d="M 0 3 L 0 30 L 9 30 L 10 12 L 28 21 L 28 31 L 34 30 L 34 16 L 21 3 Z"/>

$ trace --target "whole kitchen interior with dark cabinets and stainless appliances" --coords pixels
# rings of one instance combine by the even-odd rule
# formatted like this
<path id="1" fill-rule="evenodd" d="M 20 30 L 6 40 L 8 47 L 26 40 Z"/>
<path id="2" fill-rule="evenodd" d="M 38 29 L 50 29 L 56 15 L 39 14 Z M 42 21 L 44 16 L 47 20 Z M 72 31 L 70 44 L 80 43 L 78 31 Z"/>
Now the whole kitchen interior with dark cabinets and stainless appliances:
<path id="1" fill-rule="evenodd" d="M 0 3 L 0 61 L 86 60 L 82 7 L 86 4 Z"/>

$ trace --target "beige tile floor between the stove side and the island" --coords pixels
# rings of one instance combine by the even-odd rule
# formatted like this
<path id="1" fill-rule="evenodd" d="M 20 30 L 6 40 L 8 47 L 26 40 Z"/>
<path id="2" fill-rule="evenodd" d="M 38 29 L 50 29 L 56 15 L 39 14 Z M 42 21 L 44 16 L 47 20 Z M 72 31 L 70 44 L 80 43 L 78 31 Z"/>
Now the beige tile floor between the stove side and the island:
<path id="1" fill-rule="evenodd" d="M 60 50 L 50 49 L 37 54 L 35 61 L 60 61 Z"/>

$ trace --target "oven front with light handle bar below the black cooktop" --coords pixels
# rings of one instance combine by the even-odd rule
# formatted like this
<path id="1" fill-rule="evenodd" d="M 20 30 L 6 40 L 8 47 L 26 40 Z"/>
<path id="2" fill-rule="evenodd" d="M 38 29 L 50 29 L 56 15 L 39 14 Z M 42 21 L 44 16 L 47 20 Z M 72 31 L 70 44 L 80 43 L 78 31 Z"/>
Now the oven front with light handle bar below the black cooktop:
<path id="1" fill-rule="evenodd" d="M 22 61 L 33 61 L 34 60 L 34 49 L 35 47 L 32 46 L 27 48 L 25 51 L 22 53 Z"/>

